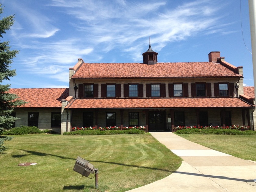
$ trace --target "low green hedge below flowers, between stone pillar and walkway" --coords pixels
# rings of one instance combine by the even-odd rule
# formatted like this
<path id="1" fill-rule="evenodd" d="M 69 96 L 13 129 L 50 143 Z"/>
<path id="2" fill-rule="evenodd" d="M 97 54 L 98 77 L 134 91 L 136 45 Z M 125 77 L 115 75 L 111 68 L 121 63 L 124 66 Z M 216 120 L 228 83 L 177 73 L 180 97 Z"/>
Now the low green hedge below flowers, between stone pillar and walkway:
<path id="1" fill-rule="evenodd" d="M 76 130 L 64 132 L 63 135 L 115 135 L 115 134 L 144 134 L 145 131 L 130 129 L 130 130 Z"/>

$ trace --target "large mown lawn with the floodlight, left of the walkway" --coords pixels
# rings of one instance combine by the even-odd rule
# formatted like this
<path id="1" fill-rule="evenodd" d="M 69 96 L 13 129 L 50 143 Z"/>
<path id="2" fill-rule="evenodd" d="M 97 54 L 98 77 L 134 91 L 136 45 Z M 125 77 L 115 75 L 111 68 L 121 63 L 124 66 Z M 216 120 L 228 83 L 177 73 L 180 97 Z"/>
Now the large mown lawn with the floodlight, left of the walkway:
<path id="1" fill-rule="evenodd" d="M 15 135 L 0 155 L 1 191 L 126 191 L 176 171 L 181 159 L 149 133 L 143 135 Z M 82 177 L 73 171 L 77 156 L 98 173 Z M 33 162 L 37 165 L 18 166 Z M 90 175 L 89 177 L 93 177 Z"/>

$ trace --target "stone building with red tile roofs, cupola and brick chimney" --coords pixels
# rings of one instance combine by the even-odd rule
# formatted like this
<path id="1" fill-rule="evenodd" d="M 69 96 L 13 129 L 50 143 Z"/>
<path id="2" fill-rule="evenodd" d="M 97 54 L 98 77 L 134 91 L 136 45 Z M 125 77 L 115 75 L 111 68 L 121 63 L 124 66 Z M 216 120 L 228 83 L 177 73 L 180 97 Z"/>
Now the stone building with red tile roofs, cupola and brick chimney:
<path id="1" fill-rule="evenodd" d="M 11 89 L 29 102 L 15 109 L 20 118 L 15 126 L 30 125 L 32 114 L 39 129 L 60 133 L 90 126 L 145 126 L 147 132 L 210 125 L 254 129 L 254 95 L 243 87 L 243 67 L 229 64 L 220 52 L 210 52 L 207 62 L 161 63 L 149 45 L 142 55 L 142 63 L 78 59 L 69 68 L 69 89 Z M 27 90 L 34 91 L 31 97 Z"/>

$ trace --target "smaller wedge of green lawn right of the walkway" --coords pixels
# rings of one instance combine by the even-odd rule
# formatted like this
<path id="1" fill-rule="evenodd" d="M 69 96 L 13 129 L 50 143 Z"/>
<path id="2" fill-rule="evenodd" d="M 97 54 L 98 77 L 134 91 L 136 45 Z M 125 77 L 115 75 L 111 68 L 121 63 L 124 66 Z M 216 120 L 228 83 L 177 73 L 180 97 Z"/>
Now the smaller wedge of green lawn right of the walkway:
<path id="1" fill-rule="evenodd" d="M 255 135 L 177 135 L 216 151 L 256 161 Z"/>

